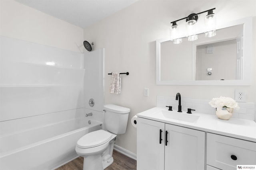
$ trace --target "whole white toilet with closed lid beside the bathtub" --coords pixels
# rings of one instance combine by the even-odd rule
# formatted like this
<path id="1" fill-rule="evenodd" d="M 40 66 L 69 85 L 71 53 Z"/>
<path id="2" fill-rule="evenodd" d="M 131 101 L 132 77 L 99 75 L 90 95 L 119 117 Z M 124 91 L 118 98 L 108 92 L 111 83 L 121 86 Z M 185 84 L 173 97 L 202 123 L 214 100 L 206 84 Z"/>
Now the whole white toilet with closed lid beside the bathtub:
<path id="1" fill-rule="evenodd" d="M 76 153 L 84 157 L 83 170 L 103 170 L 112 164 L 116 135 L 126 132 L 129 112 L 126 107 L 104 105 L 106 131 L 87 133 L 76 143 Z"/>

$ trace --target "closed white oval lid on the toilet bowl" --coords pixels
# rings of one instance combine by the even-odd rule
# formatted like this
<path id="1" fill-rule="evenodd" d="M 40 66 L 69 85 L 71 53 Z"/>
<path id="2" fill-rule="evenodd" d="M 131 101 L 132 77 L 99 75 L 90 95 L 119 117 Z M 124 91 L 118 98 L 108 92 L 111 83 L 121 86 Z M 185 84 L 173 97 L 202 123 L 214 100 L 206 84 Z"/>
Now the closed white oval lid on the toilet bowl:
<path id="1" fill-rule="evenodd" d="M 111 133 L 102 129 L 87 133 L 77 141 L 77 146 L 80 148 L 92 148 L 102 145 L 110 140 Z"/>

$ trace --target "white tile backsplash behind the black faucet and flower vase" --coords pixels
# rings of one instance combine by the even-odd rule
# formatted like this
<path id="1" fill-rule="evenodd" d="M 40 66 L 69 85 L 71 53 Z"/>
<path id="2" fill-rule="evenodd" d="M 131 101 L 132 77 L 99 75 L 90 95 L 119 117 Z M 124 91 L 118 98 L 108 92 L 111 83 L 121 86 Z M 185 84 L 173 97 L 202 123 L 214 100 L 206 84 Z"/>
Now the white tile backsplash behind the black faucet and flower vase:
<path id="1" fill-rule="evenodd" d="M 182 111 L 187 111 L 188 108 L 195 109 L 196 113 L 204 113 L 215 115 L 215 108 L 208 104 L 210 100 L 193 99 L 193 98 L 181 98 Z M 157 96 L 157 107 L 172 106 L 173 109 L 178 110 L 178 100 L 171 96 Z M 234 110 L 234 118 L 255 120 L 255 103 L 241 103 L 238 102 L 239 110 Z M 192 111 L 193 113 L 193 111 Z"/>

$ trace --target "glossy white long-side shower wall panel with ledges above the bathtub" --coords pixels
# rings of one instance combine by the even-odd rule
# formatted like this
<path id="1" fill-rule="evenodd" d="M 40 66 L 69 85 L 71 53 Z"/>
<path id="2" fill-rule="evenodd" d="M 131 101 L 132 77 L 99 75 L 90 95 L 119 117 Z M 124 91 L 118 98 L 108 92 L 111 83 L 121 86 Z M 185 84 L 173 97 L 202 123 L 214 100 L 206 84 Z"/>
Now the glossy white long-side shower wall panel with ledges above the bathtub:
<path id="1" fill-rule="evenodd" d="M 0 121 L 83 107 L 82 53 L 0 37 Z"/>

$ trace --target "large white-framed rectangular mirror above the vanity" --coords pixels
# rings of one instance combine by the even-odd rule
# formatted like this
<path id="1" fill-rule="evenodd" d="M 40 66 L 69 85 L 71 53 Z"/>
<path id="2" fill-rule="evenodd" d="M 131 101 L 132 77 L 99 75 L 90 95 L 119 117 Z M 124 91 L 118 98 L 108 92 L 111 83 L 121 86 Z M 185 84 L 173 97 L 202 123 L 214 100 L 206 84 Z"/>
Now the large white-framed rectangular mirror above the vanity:
<path id="1" fill-rule="evenodd" d="M 158 85 L 250 85 L 252 17 L 223 23 L 216 36 L 174 44 L 156 40 Z"/>

